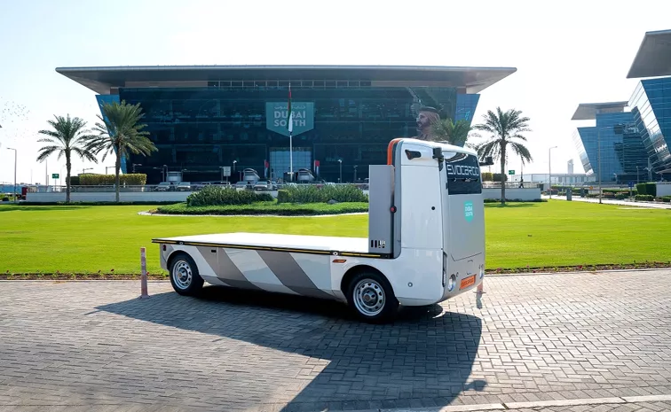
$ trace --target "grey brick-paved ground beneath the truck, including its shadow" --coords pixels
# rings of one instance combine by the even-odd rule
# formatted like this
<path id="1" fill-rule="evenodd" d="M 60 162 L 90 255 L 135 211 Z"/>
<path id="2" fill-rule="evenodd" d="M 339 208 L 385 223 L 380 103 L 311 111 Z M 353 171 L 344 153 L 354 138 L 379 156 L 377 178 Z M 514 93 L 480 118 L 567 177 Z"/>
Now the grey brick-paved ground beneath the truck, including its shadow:
<path id="1" fill-rule="evenodd" d="M 334 302 L 214 287 L 186 298 L 169 283 L 150 283 L 151 299 L 137 299 L 138 282 L 0 282 L 0 292 L 2 411 L 366 410 L 671 393 L 668 270 L 488 276 L 481 299 L 468 292 L 408 309 L 392 325 L 359 323 Z"/>

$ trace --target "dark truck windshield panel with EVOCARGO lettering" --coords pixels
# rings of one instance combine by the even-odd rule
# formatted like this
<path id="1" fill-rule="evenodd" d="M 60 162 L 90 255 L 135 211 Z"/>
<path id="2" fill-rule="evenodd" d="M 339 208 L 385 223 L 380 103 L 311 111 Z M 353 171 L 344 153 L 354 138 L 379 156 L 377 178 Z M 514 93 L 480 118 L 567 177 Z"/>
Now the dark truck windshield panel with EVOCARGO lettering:
<path id="1" fill-rule="evenodd" d="M 478 158 L 468 153 L 445 152 L 449 195 L 482 193 Z"/>

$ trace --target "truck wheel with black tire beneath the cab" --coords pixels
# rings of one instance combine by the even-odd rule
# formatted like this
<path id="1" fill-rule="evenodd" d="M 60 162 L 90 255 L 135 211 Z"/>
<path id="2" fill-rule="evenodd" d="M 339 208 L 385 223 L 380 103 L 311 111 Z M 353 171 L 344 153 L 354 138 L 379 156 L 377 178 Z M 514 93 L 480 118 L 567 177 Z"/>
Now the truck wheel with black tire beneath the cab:
<path id="1" fill-rule="evenodd" d="M 359 272 L 351 278 L 347 303 L 359 319 L 368 323 L 390 322 L 399 311 L 391 284 L 374 271 Z"/>

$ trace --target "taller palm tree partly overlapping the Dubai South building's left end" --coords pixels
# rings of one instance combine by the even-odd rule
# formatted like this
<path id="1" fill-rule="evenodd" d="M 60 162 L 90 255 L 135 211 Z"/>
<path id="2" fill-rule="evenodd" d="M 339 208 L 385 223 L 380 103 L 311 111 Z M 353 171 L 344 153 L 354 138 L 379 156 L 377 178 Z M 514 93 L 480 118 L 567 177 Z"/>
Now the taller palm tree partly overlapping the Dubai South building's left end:
<path id="1" fill-rule="evenodd" d="M 95 127 L 99 135 L 91 136 L 88 147 L 95 153 L 103 152 L 103 160 L 108 154 L 116 154 L 114 186 L 116 186 L 116 201 L 118 202 L 121 159 L 128 157 L 129 153 L 148 156 L 158 149 L 146 137 L 149 132 L 142 130 L 146 128 L 146 124 L 139 123 L 139 120 L 145 116 L 139 103 L 137 105 L 128 105 L 125 101 L 121 104 L 106 103 L 102 106 L 101 112 L 103 116 L 98 115 L 98 118 L 102 123 L 96 123 Z"/>

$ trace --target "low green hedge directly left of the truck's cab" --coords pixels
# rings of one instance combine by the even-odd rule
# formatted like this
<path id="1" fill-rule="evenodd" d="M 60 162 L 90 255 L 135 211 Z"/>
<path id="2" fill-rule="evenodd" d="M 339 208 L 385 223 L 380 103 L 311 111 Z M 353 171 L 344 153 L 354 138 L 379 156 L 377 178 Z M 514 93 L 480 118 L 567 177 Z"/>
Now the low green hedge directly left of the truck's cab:
<path id="1" fill-rule="evenodd" d="M 368 202 L 368 196 L 351 184 L 328 184 L 318 188 L 314 185 L 289 186 L 278 190 L 278 203 L 326 203 L 336 202 Z"/>

